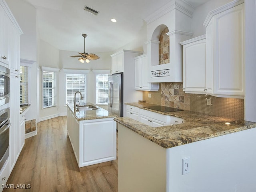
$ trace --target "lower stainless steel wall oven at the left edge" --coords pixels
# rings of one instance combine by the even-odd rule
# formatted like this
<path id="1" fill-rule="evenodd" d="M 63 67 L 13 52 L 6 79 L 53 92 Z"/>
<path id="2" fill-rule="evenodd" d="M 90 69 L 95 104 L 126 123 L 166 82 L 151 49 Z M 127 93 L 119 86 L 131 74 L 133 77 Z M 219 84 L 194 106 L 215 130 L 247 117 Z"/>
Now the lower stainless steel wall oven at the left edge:
<path id="1" fill-rule="evenodd" d="M 0 112 L 0 170 L 9 156 L 10 110 Z"/>

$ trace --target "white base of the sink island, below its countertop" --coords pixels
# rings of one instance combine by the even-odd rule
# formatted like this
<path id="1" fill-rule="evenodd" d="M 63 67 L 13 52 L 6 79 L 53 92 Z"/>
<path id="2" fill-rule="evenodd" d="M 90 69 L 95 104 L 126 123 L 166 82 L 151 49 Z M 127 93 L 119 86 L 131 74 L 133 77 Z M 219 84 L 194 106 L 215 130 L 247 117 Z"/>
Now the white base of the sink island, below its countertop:
<path id="1" fill-rule="evenodd" d="M 68 137 L 78 167 L 116 159 L 116 122 L 113 119 L 78 121 L 68 109 Z"/>

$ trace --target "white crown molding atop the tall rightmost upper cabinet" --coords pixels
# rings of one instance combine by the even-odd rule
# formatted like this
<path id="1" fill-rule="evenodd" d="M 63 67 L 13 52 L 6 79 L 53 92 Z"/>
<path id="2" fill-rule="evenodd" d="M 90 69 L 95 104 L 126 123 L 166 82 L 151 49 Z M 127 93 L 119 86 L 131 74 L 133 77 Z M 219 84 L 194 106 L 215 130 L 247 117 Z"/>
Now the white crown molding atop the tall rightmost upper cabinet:
<path id="1" fill-rule="evenodd" d="M 207 26 L 207 25 L 209 24 L 211 18 L 212 18 L 214 15 L 219 14 L 219 13 L 221 13 L 221 12 L 223 12 L 223 11 L 226 11 L 226 10 L 232 8 L 232 7 L 238 6 L 238 5 L 242 4 L 242 3 L 244 3 L 244 0 L 234 0 L 234 1 L 228 3 L 228 4 L 224 5 L 224 6 L 221 6 L 221 7 L 219 7 L 219 8 L 216 8 L 216 9 L 210 11 L 210 12 L 208 13 L 208 15 L 207 15 L 205 21 L 204 21 L 203 26 Z"/>

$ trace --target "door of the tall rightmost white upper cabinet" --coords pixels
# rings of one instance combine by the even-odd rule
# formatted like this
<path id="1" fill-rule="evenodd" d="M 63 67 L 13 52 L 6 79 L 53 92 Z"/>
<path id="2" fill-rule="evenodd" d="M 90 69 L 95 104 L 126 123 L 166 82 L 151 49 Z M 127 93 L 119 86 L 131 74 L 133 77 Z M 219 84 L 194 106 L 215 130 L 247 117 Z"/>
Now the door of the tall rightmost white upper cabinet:
<path id="1" fill-rule="evenodd" d="M 213 16 L 214 94 L 244 95 L 244 4 Z"/>

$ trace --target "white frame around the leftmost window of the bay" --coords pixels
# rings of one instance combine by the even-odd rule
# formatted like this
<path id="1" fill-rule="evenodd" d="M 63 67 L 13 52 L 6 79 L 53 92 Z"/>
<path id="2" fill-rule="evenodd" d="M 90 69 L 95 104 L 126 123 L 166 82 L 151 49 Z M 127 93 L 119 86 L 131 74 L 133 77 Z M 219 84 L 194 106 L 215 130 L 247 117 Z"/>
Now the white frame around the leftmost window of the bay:
<path id="1" fill-rule="evenodd" d="M 51 67 L 41 67 L 42 71 L 41 71 L 41 106 L 42 109 L 46 109 L 46 108 L 51 108 L 51 107 L 56 107 L 57 103 L 58 103 L 58 68 L 51 68 Z M 44 72 L 53 72 L 55 77 L 54 77 L 54 105 L 51 106 L 44 106 Z"/>

